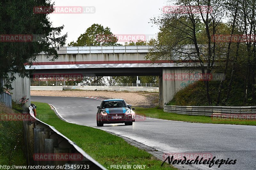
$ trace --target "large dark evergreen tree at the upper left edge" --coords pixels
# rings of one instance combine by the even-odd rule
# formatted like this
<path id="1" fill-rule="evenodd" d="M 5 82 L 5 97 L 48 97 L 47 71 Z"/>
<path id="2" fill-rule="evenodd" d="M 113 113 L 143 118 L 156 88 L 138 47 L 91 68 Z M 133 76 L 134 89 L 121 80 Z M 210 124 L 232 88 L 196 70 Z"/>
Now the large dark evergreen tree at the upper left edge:
<path id="1" fill-rule="evenodd" d="M 2 0 L 0 2 L 0 91 L 3 90 L 3 85 L 5 88 L 12 89 L 11 82 L 15 80 L 15 73 L 22 78 L 29 76 L 24 63 L 32 65 L 38 53 L 43 51 L 47 54 L 47 58 L 51 56 L 51 60 L 54 61 L 58 58 L 56 48 L 59 49 L 65 45 L 67 34 L 60 35 L 64 26 L 52 27 L 48 18 L 48 14 L 52 11 L 44 14 L 35 13 L 33 7 L 38 6 L 53 7 L 53 4 L 46 0 Z M 33 41 L 4 40 L 4 37 L 13 35 L 31 36 Z"/>

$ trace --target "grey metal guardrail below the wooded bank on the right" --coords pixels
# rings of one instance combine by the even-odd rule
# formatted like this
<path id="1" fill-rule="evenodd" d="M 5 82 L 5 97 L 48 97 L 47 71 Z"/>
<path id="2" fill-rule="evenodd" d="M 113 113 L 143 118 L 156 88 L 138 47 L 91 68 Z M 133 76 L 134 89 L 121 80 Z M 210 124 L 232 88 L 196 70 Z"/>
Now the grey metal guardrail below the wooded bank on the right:
<path id="1" fill-rule="evenodd" d="M 164 111 L 184 115 L 204 115 L 204 116 L 223 116 L 239 117 L 241 115 L 255 115 L 256 106 L 229 107 L 229 106 L 167 106 Z"/>

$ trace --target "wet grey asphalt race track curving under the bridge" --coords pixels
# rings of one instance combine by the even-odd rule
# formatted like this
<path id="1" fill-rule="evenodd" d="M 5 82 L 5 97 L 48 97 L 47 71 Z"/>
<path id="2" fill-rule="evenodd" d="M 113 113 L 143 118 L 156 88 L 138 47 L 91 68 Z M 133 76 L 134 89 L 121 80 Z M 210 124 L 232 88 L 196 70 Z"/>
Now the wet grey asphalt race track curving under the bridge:
<path id="1" fill-rule="evenodd" d="M 129 137 L 165 153 L 212 155 L 216 159 L 236 159 L 235 165 L 195 165 L 198 169 L 256 169 L 256 126 L 203 124 L 147 118 L 124 124 L 96 126 L 101 101 L 78 97 L 31 96 L 31 101 L 52 104 L 67 121 Z M 128 103 L 129 104 L 129 103 Z M 136 110 L 134 110 L 136 113 Z M 53 125 L 54 126 L 54 125 Z"/>

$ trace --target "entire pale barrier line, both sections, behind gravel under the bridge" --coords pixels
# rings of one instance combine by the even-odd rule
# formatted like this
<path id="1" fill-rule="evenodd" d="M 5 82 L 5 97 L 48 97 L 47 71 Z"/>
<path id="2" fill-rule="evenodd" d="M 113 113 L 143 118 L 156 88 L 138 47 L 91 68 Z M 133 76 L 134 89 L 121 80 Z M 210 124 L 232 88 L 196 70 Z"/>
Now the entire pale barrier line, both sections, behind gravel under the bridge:
<path id="1" fill-rule="evenodd" d="M 108 91 L 129 91 L 129 92 L 159 92 L 159 87 L 143 86 L 30 86 L 30 90 L 108 90 Z"/>

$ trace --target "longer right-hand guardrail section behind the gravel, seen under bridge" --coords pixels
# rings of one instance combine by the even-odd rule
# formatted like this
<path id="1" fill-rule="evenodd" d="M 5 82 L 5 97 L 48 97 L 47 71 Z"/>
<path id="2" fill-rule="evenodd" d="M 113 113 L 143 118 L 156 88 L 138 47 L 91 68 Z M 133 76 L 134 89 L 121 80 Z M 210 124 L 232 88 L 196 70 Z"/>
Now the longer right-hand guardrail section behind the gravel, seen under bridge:
<path id="1" fill-rule="evenodd" d="M 108 90 L 108 91 L 145 91 L 145 92 L 159 92 L 159 87 L 141 87 L 141 86 L 66 86 L 64 89 L 76 90 Z"/>

